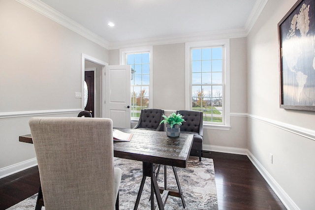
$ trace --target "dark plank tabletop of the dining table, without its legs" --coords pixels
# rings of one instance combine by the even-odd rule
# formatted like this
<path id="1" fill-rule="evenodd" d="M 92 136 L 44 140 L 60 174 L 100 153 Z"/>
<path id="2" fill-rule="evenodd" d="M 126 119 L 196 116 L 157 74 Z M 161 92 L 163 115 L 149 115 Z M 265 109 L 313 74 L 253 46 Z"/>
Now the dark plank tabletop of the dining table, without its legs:
<path id="1" fill-rule="evenodd" d="M 115 129 L 133 134 L 130 142 L 114 141 L 115 157 L 186 168 L 192 134 L 181 133 L 180 137 L 170 138 L 162 131 Z M 20 136 L 19 141 L 33 143 L 31 134 Z"/>

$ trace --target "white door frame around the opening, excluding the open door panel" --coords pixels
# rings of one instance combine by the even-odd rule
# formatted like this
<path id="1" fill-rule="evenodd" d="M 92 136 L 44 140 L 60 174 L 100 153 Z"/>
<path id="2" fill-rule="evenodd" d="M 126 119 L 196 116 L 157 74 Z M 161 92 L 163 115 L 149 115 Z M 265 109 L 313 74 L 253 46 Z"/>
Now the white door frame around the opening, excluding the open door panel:
<path id="1" fill-rule="evenodd" d="M 86 55 L 82 53 L 82 64 L 81 64 L 81 92 L 84 92 L 84 72 L 85 72 L 85 60 L 89 60 L 91 62 L 97 63 L 102 66 L 102 82 L 101 82 L 101 90 L 95 90 L 99 92 L 100 96 L 100 116 L 105 118 L 105 65 L 108 65 L 107 62 L 103 60 L 96 59 L 92 56 Z M 81 97 L 81 109 L 84 110 L 84 97 Z"/>

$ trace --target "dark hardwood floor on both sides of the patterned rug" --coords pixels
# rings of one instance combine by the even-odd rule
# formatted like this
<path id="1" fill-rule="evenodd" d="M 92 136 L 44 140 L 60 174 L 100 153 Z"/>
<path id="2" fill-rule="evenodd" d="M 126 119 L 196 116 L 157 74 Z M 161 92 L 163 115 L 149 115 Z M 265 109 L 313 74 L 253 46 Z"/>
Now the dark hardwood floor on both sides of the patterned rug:
<path id="1" fill-rule="evenodd" d="M 219 210 L 285 210 L 277 195 L 246 155 L 205 153 L 214 160 Z M 38 191 L 38 168 L 0 179 L 0 210 Z"/>

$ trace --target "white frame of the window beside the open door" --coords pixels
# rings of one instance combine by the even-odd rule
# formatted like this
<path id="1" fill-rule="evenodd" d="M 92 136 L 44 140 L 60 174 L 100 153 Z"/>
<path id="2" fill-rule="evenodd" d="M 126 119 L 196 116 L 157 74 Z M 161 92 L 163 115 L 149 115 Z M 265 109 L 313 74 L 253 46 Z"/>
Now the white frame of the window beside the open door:
<path id="1" fill-rule="evenodd" d="M 150 54 L 150 84 L 149 84 L 149 108 L 153 107 L 153 47 L 132 47 L 132 48 L 122 48 L 119 50 L 119 63 L 120 65 L 126 65 L 126 55 L 132 53 L 149 53 Z M 139 120 L 139 118 L 132 117 L 131 120 Z"/>

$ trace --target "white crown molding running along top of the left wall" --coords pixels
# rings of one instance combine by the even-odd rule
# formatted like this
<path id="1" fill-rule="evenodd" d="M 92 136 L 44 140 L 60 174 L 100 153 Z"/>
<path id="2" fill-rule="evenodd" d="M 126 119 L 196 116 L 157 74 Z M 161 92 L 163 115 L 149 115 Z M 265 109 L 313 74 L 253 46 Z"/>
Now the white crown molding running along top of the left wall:
<path id="1" fill-rule="evenodd" d="M 82 35 L 83 37 L 95 42 L 96 44 L 108 49 L 108 41 L 86 29 L 82 25 L 48 6 L 40 0 L 16 0 L 17 2 L 31 8 L 32 10 L 46 16 L 47 18 L 59 23 L 60 25 Z"/>

